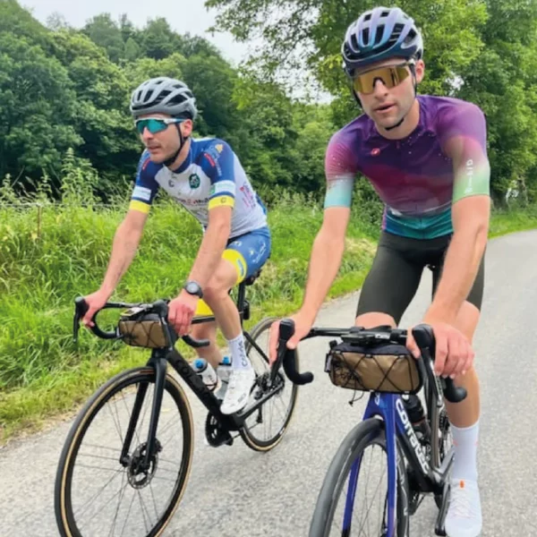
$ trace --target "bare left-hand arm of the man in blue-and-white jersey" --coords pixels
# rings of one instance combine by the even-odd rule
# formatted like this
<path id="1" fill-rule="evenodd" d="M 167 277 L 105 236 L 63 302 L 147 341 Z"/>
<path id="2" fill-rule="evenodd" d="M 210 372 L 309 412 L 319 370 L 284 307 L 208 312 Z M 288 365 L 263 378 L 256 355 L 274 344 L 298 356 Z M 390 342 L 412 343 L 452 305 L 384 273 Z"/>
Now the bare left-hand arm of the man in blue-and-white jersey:
<path id="1" fill-rule="evenodd" d="M 85 297 L 90 309 L 84 316 L 84 324 L 92 326 L 91 318 L 107 303 L 107 300 L 114 293 L 115 286 L 131 265 L 140 244 L 147 218 L 147 213 L 130 209 L 124 217 L 124 221 L 117 227 L 103 283 L 96 293 Z"/>

